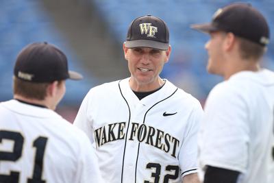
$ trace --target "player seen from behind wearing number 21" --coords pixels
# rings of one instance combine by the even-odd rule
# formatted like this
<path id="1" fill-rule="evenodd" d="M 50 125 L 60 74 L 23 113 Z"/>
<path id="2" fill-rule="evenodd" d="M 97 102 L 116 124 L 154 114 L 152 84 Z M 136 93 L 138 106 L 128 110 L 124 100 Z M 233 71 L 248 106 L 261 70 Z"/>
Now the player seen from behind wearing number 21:
<path id="1" fill-rule="evenodd" d="M 86 134 L 55 113 L 68 71 L 66 56 L 47 42 L 27 45 L 14 66 L 14 99 L 0 103 L 0 182 L 101 182 Z"/>

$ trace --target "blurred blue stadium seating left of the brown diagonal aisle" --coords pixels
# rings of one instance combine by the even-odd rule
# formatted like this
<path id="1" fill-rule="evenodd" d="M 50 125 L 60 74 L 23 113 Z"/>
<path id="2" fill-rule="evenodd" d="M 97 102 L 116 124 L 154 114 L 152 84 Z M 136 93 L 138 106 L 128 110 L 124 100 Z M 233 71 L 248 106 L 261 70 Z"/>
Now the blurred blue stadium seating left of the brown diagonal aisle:
<path id="1" fill-rule="evenodd" d="M 68 47 L 66 40 L 55 29 L 53 20 L 47 16 L 40 1 L 1 1 L 0 11 L 0 101 L 12 98 L 12 75 L 16 55 L 31 42 L 47 41 L 66 53 L 71 70 L 83 73 L 86 80 L 67 81 L 63 103 L 79 104 L 88 92 L 93 78 L 84 71 L 77 56 Z"/>

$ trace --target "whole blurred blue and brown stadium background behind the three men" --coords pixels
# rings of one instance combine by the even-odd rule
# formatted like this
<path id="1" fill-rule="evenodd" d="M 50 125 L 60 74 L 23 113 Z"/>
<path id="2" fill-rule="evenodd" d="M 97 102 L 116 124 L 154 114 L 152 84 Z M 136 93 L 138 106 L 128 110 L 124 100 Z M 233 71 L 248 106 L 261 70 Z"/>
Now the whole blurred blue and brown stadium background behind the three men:
<path id="1" fill-rule="evenodd" d="M 166 21 L 170 30 L 171 59 L 162 77 L 197 97 L 203 104 L 221 77 L 206 72 L 208 36 L 192 23 L 211 20 L 212 14 L 234 1 L 227 0 L 9 0 L 0 11 L 0 101 L 12 98 L 12 69 L 18 51 L 30 42 L 47 41 L 60 47 L 69 67 L 84 80 L 66 82 L 66 95 L 57 112 L 73 121 L 82 99 L 92 86 L 129 76 L 122 44 L 127 27 L 138 16 L 152 14 Z M 266 16 L 274 30 L 274 1 L 251 3 Z M 274 70 L 274 38 L 264 57 Z M 110 93 L 111 95 L 111 93 Z"/>

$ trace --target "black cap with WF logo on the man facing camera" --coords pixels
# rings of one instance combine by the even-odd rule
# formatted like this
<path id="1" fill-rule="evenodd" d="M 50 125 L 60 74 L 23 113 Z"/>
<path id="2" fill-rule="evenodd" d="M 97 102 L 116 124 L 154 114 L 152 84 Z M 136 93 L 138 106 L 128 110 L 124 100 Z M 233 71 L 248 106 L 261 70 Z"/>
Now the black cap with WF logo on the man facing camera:
<path id="1" fill-rule="evenodd" d="M 169 28 L 156 16 L 140 16 L 129 25 L 125 47 L 169 49 Z"/>

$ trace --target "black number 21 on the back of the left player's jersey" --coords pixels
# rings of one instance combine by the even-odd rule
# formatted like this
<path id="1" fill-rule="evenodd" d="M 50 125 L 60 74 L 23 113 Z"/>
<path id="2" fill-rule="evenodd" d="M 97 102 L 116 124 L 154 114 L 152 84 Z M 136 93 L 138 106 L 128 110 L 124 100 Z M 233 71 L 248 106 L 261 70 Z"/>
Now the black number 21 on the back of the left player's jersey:
<path id="1" fill-rule="evenodd" d="M 0 149 L 0 165 L 1 161 L 16 162 L 22 156 L 24 138 L 20 132 L 11 132 L 6 130 L 0 130 L 0 145 L 3 140 L 13 141 L 14 145 L 12 151 L 1 151 Z M 27 183 L 45 183 L 42 180 L 42 164 L 45 153 L 45 148 L 47 145 L 47 138 L 43 136 L 38 136 L 34 139 L 32 146 L 36 149 L 36 154 L 34 157 L 34 171 L 30 178 L 27 178 Z M 0 173 L 0 182 L 17 183 L 19 182 L 20 172 L 10 171 L 10 174 Z"/>

